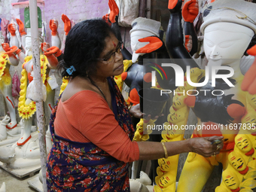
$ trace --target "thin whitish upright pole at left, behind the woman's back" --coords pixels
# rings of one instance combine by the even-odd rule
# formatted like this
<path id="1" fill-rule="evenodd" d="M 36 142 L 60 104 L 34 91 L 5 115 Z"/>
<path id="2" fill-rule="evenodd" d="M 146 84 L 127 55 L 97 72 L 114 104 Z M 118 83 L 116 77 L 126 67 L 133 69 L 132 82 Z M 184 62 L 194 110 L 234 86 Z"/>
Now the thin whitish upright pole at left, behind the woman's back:
<path id="1" fill-rule="evenodd" d="M 35 91 L 40 96 L 39 101 L 36 101 L 36 116 L 38 124 L 38 139 L 41 156 L 41 172 L 43 178 L 44 192 L 47 191 L 46 184 L 46 160 L 47 152 L 45 145 L 45 129 L 44 129 L 44 105 L 42 93 L 42 80 L 41 80 L 41 65 L 40 65 L 40 52 L 39 52 L 39 37 L 38 37 L 38 7 L 36 0 L 29 0 L 29 17 L 32 38 L 32 59 L 33 59 L 33 72 L 35 81 Z"/>

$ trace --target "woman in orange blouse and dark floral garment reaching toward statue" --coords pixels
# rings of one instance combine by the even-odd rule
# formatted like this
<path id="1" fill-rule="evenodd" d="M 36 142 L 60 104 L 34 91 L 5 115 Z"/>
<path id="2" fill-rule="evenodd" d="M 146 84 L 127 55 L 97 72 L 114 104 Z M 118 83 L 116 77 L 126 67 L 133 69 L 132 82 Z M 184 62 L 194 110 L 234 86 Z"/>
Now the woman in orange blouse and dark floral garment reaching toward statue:
<path id="1" fill-rule="evenodd" d="M 62 77 L 69 77 L 50 120 L 53 137 L 47 160 L 48 191 L 130 191 L 128 168 L 134 160 L 194 151 L 218 154 L 222 137 L 180 142 L 132 142 L 130 113 L 113 76 L 123 72 L 122 42 L 103 20 L 76 24 L 66 38 Z M 217 150 L 218 149 L 218 150 Z"/>

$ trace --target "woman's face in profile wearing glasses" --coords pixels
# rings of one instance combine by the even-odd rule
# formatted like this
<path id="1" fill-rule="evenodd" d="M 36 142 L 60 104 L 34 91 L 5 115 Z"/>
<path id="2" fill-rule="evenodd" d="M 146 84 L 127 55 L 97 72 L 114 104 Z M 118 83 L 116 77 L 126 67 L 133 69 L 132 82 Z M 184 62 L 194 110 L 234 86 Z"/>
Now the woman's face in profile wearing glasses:
<path id="1" fill-rule="evenodd" d="M 108 61 L 98 61 L 96 73 L 98 76 L 116 76 L 123 72 L 123 55 L 120 52 L 120 46 L 114 34 L 105 38 L 105 48 L 99 55 L 99 59 L 108 59 Z"/>

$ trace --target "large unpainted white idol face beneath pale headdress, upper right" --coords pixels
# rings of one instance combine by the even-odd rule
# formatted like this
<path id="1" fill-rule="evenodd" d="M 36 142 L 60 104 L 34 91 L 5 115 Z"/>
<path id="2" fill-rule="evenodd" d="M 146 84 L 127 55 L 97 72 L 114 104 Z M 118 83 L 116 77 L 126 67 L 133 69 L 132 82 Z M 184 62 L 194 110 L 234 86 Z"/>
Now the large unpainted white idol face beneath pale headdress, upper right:
<path id="1" fill-rule="evenodd" d="M 234 59 L 241 59 L 254 32 L 252 29 L 236 23 L 218 22 L 206 26 L 203 46 L 206 58 L 212 64 L 221 60 L 227 65 Z"/>

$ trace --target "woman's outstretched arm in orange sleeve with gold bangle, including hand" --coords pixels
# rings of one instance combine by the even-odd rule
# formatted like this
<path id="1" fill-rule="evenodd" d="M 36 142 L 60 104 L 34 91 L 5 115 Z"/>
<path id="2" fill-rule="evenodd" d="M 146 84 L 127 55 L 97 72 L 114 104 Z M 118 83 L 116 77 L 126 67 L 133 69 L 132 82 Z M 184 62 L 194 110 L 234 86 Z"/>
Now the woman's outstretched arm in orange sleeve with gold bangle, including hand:
<path id="1" fill-rule="evenodd" d="M 94 102 L 91 102 L 91 98 L 94 99 Z M 86 95 L 81 95 L 78 100 L 80 108 L 86 108 L 82 114 L 77 115 L 81 125 L 80 129 L 78 128 L 79 131 L 90 142 L 93 142 L 112 157 L 123 162 L 157 160 L 165 157 L 165 151 L 160 142 L 132 142 L 115 120 L 108 104 L 99 94 L 88 92 Z M 78 113 L 81 113 L 81 111 Z M 215 139 L 221 140 L 223 137 L 194 138 L 178 142 L 166 142 L 165 145 L 168 156 L 195 152 L 204 157 L 209 157 L 214 152 L 215 154 L 219 153 L 219 151 L 216 151 L 217 147 L 211 145 L 211 142 Z M 223 143 L 221 148 L 222 146 Z"/>

